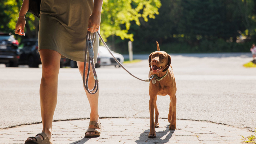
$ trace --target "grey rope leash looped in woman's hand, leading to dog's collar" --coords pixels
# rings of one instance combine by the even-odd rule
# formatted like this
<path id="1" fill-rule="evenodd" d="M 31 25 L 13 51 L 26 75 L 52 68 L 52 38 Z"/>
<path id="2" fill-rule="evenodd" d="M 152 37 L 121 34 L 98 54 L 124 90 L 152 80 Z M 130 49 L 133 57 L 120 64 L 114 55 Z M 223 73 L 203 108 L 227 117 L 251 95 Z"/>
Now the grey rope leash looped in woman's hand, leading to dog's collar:
<path id="1" fill-rule="evenodd" d="M 150 80 L 155 77 L 155 75 L 151 75 L 147 79 L 140 79 L 140 78 L 136 77 L 135 75 L 131 74 L 125 67 L 123 67 L 123 65 L 117 60 L 117 58 L 115 58 L 115 56 L 110 51 L 109 47 L 107 47 L 106 43 L 103 41 L 99 32 L 97 31 L 96 33 L 99 35 L 99 38 L 101 39 L 101 42 L 106 47 L 106 49 L 109 51 L 109 53 L 112 55 L 112 57 L 115 59 L 115 61 L 118 63 L 118 65 L 121 66 L 131 76 L 133 76 L 134 78 L 137 78 L 138 80 L 144 81 L 144 82 L 150 82 Z M 86 43 L 85 43 L 85 64 L 84 64 L 84 68 L 83 68 L 83 85 L 85 86 L 85 89 L 88 91 L 89 94 L 95 94 L 95 93 L 97 93 L 97 91 L 99 89 L 98 77 L 97 77 L 97 74 L 96 74 L 96 71 L 95 71 L 94 60 L 93 60 L 93 57 L 94 57 L 94 53 L 93 53 L 94 39 L 95 39 L 95 33 L 93 33 L 93 38 L 91 40 L 91 32 L 87 31 Z M 86 77 L 86 82 L 85 82 L 85 66 L 86 66 L 86 58 L 87 58 L 87 49 L 89 51 L 89 63 L 88 63 L 89 66 L 88 66 L 87 77 Z M 89 88 L 88 88 L 88 77 L 89 77 L 89 73 L 90 73 L 90 65 L 93 69 L 93 75 L 94 75 L 94 79 L 95 79 L 95 85 L 94 85 L 94 88 L 92 90 L 89 90 Z"/>

